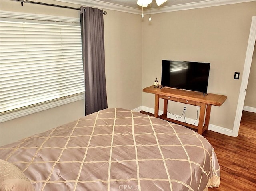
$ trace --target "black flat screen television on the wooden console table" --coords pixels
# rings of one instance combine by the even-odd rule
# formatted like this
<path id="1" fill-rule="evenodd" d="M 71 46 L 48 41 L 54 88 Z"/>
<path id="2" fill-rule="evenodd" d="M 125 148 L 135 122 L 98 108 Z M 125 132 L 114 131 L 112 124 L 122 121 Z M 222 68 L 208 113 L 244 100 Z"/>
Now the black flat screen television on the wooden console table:
<path id="1" fill-rule="evenodd" d="M 162 61 L 163 87 L 207 93 L 210 63 L 190 61 Z"/>

